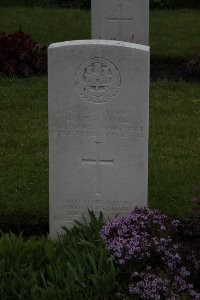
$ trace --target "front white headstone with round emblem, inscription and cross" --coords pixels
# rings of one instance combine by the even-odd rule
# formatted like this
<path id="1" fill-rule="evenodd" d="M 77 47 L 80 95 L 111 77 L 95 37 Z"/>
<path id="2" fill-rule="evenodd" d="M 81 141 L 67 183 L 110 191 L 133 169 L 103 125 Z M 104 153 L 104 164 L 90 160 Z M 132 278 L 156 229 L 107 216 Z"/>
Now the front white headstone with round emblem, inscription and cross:
<path id="1" fill-rule="evenodd" d="M 50 236 L 88 209 L 147 206 L 149 47 L 72 41 L 49 47 Z"/>

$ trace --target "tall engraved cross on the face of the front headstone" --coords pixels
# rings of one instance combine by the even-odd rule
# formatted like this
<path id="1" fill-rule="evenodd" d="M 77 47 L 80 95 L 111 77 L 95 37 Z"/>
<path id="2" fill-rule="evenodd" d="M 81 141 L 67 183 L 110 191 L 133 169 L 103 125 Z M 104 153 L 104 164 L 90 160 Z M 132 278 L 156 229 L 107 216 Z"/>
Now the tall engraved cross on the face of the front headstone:
<path id="1" fill-rule="evenodd" d="M 96 166 L 96 196 L 101 195 L 101 177 L 100 177 L 100 166 L 101 165 L 114 165 L 114 159 L 100 159 L 99 158 L 99 151 L 98 151 L 98 146 L 100 142 L 95 142 L 96 144 L 96 159 L 87 159 L 87 158 L 82 158 L 82 165 L 95 165 Z"/>

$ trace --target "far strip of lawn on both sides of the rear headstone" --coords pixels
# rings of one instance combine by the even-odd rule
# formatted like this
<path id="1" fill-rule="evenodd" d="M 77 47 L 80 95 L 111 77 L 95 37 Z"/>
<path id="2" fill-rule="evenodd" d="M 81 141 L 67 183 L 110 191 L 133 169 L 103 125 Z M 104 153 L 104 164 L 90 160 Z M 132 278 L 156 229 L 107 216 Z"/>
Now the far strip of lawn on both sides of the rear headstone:
<path id="1" fill-rule="evenodd" d="M 151 56 L 185 59 L 200 45 L 200 10 L 150 12 Z M 9 7 L 0 10 L 0 31 L 22 30 L 49 45 L 64 40 L 90 39 L 90 12 L 75 9 Z M 61 30 L 62 28 L 62 30 Z"/>

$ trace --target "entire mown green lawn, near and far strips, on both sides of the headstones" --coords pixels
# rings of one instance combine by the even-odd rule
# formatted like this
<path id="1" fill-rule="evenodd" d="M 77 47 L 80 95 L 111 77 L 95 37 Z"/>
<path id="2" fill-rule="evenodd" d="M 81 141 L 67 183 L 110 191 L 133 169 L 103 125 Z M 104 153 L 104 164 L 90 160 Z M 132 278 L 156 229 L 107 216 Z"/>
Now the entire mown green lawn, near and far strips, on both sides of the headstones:
<path id="1" fill-rule="evenodd" d="M 200 44 L 200 11 L 152 11 L 152 55 L 181 58 Z M 190 26 L 189 26 L 190 24 Z M 191 26 L 192 24 L 192 26 Z M 0 30 L 19 26 L 49 44 L 90 38 L 90 12 L 51 8 L 1 8 Z M 83 26 L 84 25 L 84 26 Z M 151 84 L 149 205 L 171 216 L 188 210 L 200 183 L 200 85 Z M 1 222 L 48 220 L 47 77 L 0 77 Z M 1 223 L 0 222 L 0 223 Z"/>

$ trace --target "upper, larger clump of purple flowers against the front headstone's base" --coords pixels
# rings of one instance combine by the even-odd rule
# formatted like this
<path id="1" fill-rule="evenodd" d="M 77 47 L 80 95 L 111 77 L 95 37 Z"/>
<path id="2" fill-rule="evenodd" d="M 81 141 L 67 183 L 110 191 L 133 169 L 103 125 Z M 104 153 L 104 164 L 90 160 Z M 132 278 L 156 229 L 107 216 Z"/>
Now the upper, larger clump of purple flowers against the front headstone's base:
<path id="1" fill-rule="evenodd" d="M 119 264 L 129 260 L 148 259 L 152 250 L 157 255 L 165 253 L 166 263 L 171 265 L 179 259 L 176 247 L 172 245 L 171 235 L 177 230 L 179 222 L 170 221 L 157 209 L 135 208 L 126 217 L 116 218 L 101 230 L 101 238 Z"/>

